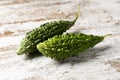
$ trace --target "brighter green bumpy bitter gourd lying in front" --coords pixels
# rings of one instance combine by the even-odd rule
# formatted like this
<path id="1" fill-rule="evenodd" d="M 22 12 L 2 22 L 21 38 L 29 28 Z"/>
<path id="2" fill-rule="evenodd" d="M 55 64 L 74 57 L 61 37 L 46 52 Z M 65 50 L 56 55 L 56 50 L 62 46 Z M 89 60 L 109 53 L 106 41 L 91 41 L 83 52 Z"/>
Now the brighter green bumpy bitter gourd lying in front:
<path id="1" fill-rule="evenodd" d="M 37 49 L 45 56 L 63 60 L 76 56 L 101 42 L 105 36 L 86 35 L 83 33 L 56 35 L 39 43 Z"/>

